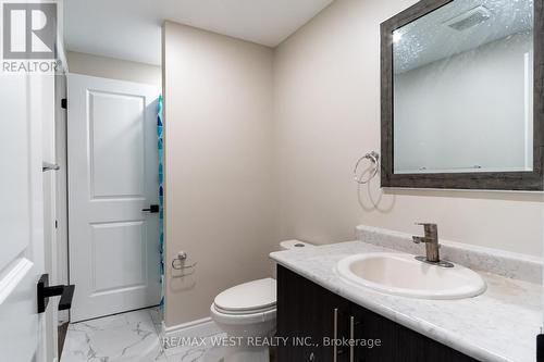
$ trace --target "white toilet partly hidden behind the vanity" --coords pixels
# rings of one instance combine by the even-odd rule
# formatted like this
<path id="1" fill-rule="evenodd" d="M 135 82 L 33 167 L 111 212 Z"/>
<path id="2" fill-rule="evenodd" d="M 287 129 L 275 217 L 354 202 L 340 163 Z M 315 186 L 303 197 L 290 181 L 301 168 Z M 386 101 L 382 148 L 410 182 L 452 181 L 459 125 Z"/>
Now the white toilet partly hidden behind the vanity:
<path id="1" fill-rule="evenodd" d="M 308 242 L 285 240 L 281 250 L 312 248 Z M 211 319 L 233 340 L 225 348 L 224 362 L 269 362 L 269 348 L 254 341 L 275 334 L 276 282 L 273 278 L 247 282 L 220 292 L 210 307 Z M 258 339 L 261 338 L 261 339 Z"/>

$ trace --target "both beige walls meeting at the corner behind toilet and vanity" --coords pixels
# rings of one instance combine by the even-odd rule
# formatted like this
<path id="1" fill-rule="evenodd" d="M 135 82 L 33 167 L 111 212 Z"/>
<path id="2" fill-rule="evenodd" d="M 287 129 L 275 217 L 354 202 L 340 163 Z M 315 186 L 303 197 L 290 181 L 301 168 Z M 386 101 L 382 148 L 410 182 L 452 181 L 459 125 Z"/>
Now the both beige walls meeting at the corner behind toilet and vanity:
<path id="1" fill-rule="evenodd" d="M 380 150 L 379 24 L 412 2 L 336 0 L 275 51 L 165 24 L 168 326 L 267 276 L 279 240 L 351 240 L 358 224 L 436 222 L 449 240 L 540 255 L 539 194 L 353 182 L 355 161 Z M 170 269 L 181 250 L 198 262 L 183 278 Z"/>

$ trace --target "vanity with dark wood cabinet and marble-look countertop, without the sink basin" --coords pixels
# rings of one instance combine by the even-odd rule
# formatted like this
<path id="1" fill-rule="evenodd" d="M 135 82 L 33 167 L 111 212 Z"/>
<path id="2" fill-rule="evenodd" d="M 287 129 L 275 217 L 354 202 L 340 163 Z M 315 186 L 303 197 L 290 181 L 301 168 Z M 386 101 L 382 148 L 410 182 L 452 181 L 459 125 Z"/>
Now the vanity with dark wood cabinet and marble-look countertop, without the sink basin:
<path id="1" fill-rule="evenodd" d="M 535 360 L 537 260 L 444 241 L 444 258 L 475 270 L 485 291 L 462 299 L 401 297 L 347 283 L 336 266 L 354 254 L 417 254 L 421 247 L 400 233 L 367 226 L 358 233 L 359 241 L 271 254 L 279 263 L 277 336 L 287 338 L 279 361 Z"/>

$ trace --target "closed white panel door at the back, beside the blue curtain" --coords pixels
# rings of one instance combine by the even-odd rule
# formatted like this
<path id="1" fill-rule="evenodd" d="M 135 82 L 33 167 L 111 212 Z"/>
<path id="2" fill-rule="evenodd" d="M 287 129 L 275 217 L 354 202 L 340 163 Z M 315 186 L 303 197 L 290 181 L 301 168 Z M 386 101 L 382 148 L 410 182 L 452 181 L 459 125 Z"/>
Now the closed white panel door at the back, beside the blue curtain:
<path id="1" fill-rule="evenodd" d="M 67 95 L 71 320 L 157 305 L 159 89 L 69 74 Z"/>

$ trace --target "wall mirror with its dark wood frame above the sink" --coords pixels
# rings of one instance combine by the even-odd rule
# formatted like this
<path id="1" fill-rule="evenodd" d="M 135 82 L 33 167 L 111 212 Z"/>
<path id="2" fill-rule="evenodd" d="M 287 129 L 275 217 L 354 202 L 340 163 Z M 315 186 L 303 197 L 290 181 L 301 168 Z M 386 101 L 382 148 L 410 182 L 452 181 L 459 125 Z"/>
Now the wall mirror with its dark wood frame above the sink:
<path id="1" fill-rule="evenodd" d="M 382 187 L 543 190 L 544 0 L 422 0 L 381 24 Z"/>

